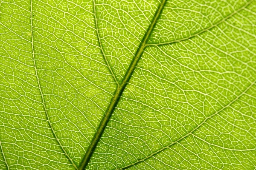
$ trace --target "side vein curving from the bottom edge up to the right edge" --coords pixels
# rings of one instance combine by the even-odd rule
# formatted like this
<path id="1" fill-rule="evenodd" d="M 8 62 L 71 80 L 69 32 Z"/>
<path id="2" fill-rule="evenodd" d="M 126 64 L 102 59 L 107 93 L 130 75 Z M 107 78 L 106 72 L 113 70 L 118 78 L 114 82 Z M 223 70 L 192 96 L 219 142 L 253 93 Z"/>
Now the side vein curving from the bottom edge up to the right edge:
<path id="1" fill-rule="evenodd" d="M 195 130 L 197 130 L 199 127 L 201 127 L 208 119 L 212 118 L 213 116 L 215 116 L 216 114 L 220 113 L 221 111 L 224 111 L 224 109 L 230 107 L 230 105 L 232 105 L 234 102 L 236 102 L 236 100 L 238 100 L 242 95 L 244 95 L 253 85 L 254 83 L 256 82 L 256 79 L 254 80 L 254 82 L 252 84 L 250 84 L 239 96 L 237 96 L 235 99 L 233 99 L 230 103 L 228 103 L 227 105 L 225 105 L 223 108 L 221 108 L 220 110 L 218 110 L 217 112 L 213 113 L 212 115 L 208 116 L 206 119 L 204 119 L 203 122 L 201 122 L 197 127 L 195 127 L 193 130 L 191 130 L 189 133 L 187 133 L 186 135 L 182 136 L 181 138 L 177 139 L 176 141 L 172 142 L 171 144 L 167 145 L 166 147 L 163 147 L 162 149 L 160 150 L 157 150 L 156 152 L 154 153 L 151 153 L 149 156 L 143 158 L 143 159 L 140 159 L 139 161 L 136 161 L 132 164 L 128 164 L 124 167 L 121 167 L 121 168 L 118 168 L 116 170 L 124 170 L 128 167 L 131 167 L 133 166 L 134 164 L 137 164 L 137 163 L 140 163 L 142 161 L 145 161 L 146 159 L 156 155 L 157 153 L 160 153 L 162 152 L 163 150 L 171 147 L 172 145 L 174 145 L 175 143 L 179 142 L 180 140 L 182 139 L 185 139 L 187 136 L 191 135 Z"/>

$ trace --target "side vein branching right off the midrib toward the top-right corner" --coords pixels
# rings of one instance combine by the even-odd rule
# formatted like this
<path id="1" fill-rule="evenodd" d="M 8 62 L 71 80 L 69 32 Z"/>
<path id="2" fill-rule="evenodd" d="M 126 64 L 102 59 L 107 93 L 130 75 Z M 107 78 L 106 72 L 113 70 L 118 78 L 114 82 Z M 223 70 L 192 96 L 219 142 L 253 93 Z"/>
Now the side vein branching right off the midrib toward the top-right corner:
<path id="1" fill-rule="evenodd" d="M 162 42 L 162 43 L 156 43 L 156 44 L 147 44 L 146 46 L 153 46 L 153 45 L 167 45 L 167 44 L 173 44 L 175 42 L 180 42 L 180 41 L 184 41 L 184 40 L 189 40 L 191 39 L 192 37 L 195 37 L 195 36 L 198 36 L 199 34 L 202 34 L 206 31 L 209 31 L 210 29 L 214 28 L 215 26 L 218 26 L 219 24 L 225 22 L 227 19 L 229 19 L 230 17 L 232 17 L 233 15 L 237 14 L 239 11 L 243 10 L 244 8 L 246 8 L 248 5 L 250 5 L 250 3 L 252 3 L 254 0 L 250 0 L 248 1 L 244 6 L 242 6 L 241 8 L 239 8 L 238 10 L 234 11 L 233 13 L 229 14 L 227 17 L 223 18 L 222 20 L 220 20 L 219 22 L 213 24 L 212 26 L 196 33 L 196 34 L 193 34 L 189 37 L 185 37 L 185 38 L 182 38 L 182 39 L 179 39 L 179 40 L 174 40 L 174 41 L 169 41 L 169 42 Z"/>

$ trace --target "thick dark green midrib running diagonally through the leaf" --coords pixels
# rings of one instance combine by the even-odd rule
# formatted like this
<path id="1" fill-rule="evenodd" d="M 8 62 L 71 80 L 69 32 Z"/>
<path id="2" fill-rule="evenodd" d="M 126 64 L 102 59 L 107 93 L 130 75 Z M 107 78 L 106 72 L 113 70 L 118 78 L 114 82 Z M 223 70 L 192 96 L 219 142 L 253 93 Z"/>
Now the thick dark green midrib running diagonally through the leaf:
<path id="1" fill-rule="evenodd" d="M 83 170 L 84 167 L 87 165 L 88 161 L 90 160 L 93 150 L 95 149 L 97 143 L 99 142 L 102 132 L 104 131 L 105 126 L 107 125 L 108 120 L 109 120 L 110 116 L 112 115 L 113 110 L 114 110 L 117 102 L 119 101 L 119 98 L 122 95 L 122 92 L 125 89 L 125 86 L 126 86 L 127 82 L 129 81 L 131 74 L 134 71 L 135 66 L 137 65 L 137 63 L 140 59 L 140 56 L 143 54 L 144 48 L 146 47 L 146 44 L 148 41 L 148 37 L 150 36 L 151 32 L 153 31 L 154 26 L 157 23 L 157 19 L 158 19 L 159 15 L 161 14 L 161 11 L 163 10 L 163 7 L 165 6 L 165 3 L 166 3 L 166 0 L 162 0 L 162 2 L 160 3 L 160 6 L 157 8 L 157 11 L 154 14 L 153 20 L 151 21 L 151 24 L 148 27 L 148 30 L 146 31 L 142 42 L 140 43 L 140 46 L 134 56 L 134 59 L 132 60 L 130 67 L 128 68 L 128 70 L 126 72 L 122 83 L 116 89 L 115 94 L 114 94 L 113 98 L 111 99 L 110 105 L 108 106 L 108 109 L 106 111 L 106 114 L 103 117 L 102 121 L 100 122 L 99 128 L 98 128 L 95 136 L 93 137 L 93 140 L 92 140 L 90 146 L 88 147 L 84 158 L 82 159 L 82 162 L 79 166 L 79 170 Z"/>

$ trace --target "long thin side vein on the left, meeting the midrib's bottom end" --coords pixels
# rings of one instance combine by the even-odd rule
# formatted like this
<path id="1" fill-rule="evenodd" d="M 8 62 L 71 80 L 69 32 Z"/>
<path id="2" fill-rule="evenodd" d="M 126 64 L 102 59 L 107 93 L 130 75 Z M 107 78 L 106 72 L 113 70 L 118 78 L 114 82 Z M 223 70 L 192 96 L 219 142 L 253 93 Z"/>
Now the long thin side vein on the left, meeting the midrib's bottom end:
<path id="1" fill-rule="evenodd" d="M 36 64 L 35 64 L 35 52 L 34 52 L 34 39 L 33 39 L 33 23 L 32 23 L 32 0 L 30 1 L 30 6 L 31 6 L 31 10 L 30 10 L 30 22 L 31 22 L 31 46 L 32 46 L 32 56 L 33 56 L 33 61 L 34 61 L 34 68 L 35 68 L 35 76 L 36 76 L 36 79 L 37 79 L 37 82 L 38 82 L 38 88 L 39 88 L 39 91 L 40 91 L 40 94 L 41 94 L 41 99 L 42 99 L 42 103 L 43 103 L 43 107 L 44 107 L 44 112 L 46 114 L 46 117 L 47 117 L 47 122 L 52 130 L 52 133 L 53 133 L 53 136 L 55 137 L 56 141 L 58 142 L 58 144 L 60 145 L 61 147 L 61 150 L 64 152 L 64 154 L 67 156 L 67 159 L 69 159 L 70 163 L 77 169 L 76 167 L 76 164 L 74 164 L 73 160 L 70 158 L 70 156 L 67 154 L 66 150 L 64 150 L 64 147 L 62 146 L 61 142 L 59 141 L 53 127 L 52 127 L 52 123 L 50 122 L 50 119 L 49 119 L 49 115 L 48 115 L 48 112 L 47 112 L 47 109 L 46 109 L 46 106 L 45 106 L 45 102 L 44 102 L 44 96 L 43 96 L 43 93 L 42 93 L 42 90 L 41 90 L 41 85 L 40 85 L 40 82 L 39 82 L 39 78 L 38 78 L 38 73 L 37 73 L 37 68 L 36 68 Z"/>

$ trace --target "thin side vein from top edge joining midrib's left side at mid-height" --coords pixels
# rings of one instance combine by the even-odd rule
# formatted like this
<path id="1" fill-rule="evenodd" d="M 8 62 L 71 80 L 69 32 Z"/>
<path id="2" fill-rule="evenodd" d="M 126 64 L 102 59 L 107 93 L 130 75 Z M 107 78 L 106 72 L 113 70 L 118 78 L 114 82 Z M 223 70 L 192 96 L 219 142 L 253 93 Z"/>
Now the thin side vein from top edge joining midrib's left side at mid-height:
<path id="1" fill-rule="evenodd" d="M 96 7 L 95 7 L 95 6 L 96 6 L 96 5 L 95 5 L 95 0 L 93 0 L 93 13 L 94 13 L 93 16 L 94 16 L 94 23 L 95 23 L 95 27 L 96 27 L 97 39 L 98 39 L 98 42 L 99 42 L 99 48 L 100 48 L 100 51 L 102 52 L 102 56 L 103 56 L 103 58 L 105 59 L 106 64 L 108 65 L 108 69 L 109 69 L 109 71 L 111 72 L 112 77 L 113 77 L 113 79 L 115 80 L 117 87 L 119 88 L 119 82 L 117 81 L 116 76 L 115 76 L 115 74 L 113 73 L 113 70 L 112 70 L 112 68 L 111 68 L 111 66 L 110 66 L 110 64 L 109 64 L 109 62 L 108 62 L 108 59 L 107 59 L 107 57 L 106 57 L 106 55 L 105 55 L 105 52 L 104 52 L 104 49 L 102 48 L 102 42 L 101 42 L 101 38 L 100 38 L 100 36 L 99 36 L 99 28 L 98 28 L 98 21 L 97 21 Z"/>

